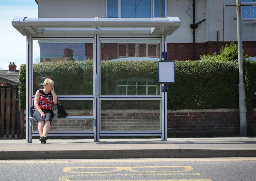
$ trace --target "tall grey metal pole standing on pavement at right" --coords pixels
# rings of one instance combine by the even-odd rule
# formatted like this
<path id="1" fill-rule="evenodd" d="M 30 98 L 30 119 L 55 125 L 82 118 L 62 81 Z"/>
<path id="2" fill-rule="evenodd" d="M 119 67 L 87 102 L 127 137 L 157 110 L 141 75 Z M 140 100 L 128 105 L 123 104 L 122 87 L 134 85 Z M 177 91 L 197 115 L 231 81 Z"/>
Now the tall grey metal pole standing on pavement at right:
<path id="1" fill-rule="evenodd" d="M 247 136 L 245 86 L 243 81 L 243 45 L 242 45 L 242 22 L 241 22 L 241 0 L 236 0 L 237 7 L 237 45 L 238 45 L 238 70 L 239 70 L 239 115 L 240 136 Z"/>

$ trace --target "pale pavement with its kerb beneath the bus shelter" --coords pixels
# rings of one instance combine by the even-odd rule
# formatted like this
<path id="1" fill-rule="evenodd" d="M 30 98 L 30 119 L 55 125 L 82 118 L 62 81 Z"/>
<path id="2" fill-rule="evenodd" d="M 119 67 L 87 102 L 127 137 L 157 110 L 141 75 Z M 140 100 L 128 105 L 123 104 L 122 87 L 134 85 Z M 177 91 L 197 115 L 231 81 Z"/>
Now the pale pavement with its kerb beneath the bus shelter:
<path id="1" fill-rule="evenodd" d="M 0 138 L 0 159 L 119 159 L 256 157 L 256 137 L 161 139 Z"/>

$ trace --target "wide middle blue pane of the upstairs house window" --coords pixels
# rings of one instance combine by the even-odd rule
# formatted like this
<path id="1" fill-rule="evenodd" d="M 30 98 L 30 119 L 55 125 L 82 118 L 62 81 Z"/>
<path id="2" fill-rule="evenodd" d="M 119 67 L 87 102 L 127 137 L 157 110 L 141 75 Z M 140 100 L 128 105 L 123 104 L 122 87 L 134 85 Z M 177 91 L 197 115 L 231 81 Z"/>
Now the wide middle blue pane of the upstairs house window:
<path id="1" fill-rule="evenodd" d="M 122 18 L 150 18 L 151 0 L 122 0 Z"/>

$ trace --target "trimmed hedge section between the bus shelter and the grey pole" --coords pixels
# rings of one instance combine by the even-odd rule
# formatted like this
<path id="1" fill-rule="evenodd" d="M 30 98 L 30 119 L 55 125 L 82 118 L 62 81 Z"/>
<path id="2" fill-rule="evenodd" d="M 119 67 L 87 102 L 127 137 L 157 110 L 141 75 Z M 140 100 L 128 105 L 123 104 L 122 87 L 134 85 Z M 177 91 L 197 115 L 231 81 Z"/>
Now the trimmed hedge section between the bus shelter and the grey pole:
<path id="1" fill-rule="evenodd" d="M 176 61 L 167 108 L 237 108 L 237 70 L 235 62 Z"/>

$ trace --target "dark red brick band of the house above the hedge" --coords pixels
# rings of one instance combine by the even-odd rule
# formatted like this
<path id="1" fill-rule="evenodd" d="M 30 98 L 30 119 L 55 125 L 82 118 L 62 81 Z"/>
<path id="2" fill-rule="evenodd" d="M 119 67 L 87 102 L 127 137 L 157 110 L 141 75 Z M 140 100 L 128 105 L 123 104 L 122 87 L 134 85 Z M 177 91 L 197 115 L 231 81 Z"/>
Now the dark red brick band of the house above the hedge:
<path id="1" fill-rule="evenodd" d="M 230 42 L 219 42 L 219 50 L 221 46 L 225 46 Z M 244 54 L 250 57 L 256 56 L 256 42 L 243 42 Z M 195 58 L 200 59 L 200 55 L 217 52 L 217 42 L 205 42 L 195 44 Z M 169 60 L 193 60 L 193 43 L 167 43 L 167 53 Z"/>

